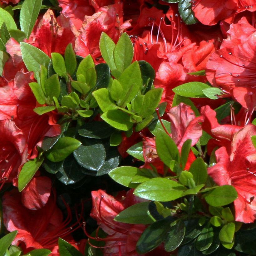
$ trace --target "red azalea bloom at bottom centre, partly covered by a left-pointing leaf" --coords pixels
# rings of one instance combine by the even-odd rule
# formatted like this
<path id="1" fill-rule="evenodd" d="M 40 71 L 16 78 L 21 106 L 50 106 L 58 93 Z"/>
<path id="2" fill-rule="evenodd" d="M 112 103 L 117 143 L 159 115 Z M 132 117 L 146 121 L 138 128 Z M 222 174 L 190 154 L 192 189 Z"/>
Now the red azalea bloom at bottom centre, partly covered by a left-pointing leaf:
<path id="1" fill-rule="evenodd" d="M 116 222 L 114 218 L 127 207 L 145 201 L 133 194 L 129 190 L 126 197 L 116 199 L 106 194 L 103 190 L 92 191 L 92 211 L 91 217 L 97 220 L 97 223 L 108 234 L 106 238 L 92 238 L 105 241 L 104 255 L 112 256 L 136 256 L 136 243 L 146 226 L 141 224 L 126 224 Z M 164 249 L 160 249 L 160 255 L 167 255 Z M 157 251 L 157 249 L 155 249 Z M 153 251 L 154 252 L 154 251 Z M 147 254 L 145 254 L 147 255 Z"/>

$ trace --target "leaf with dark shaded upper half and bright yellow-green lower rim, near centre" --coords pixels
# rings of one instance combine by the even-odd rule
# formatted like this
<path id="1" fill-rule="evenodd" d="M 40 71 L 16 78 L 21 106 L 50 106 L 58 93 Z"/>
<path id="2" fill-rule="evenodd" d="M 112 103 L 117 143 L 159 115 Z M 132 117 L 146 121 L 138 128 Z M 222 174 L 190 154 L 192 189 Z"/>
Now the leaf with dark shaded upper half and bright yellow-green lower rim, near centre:
<path id="1" fill-rule="evenodd" d="M 108 110 L 103 113 L 101 118 L 109 125 L 119 130 L 128 131 L 133 126 L 133 123 L 130 122 L 130 115 L 119 109 Z"/>

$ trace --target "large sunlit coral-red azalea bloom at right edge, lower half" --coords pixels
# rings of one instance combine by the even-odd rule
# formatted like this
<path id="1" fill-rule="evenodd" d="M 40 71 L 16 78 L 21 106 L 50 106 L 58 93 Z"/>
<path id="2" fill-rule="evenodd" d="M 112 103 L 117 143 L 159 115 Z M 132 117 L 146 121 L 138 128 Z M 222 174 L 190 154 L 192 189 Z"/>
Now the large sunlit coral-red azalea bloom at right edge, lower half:
<path id="1" fill-rule="evenodd" d="M 256 150 L 251 136 L 256 126 L 250 124 L 234 134 L 230 154 L 225 147 L 215 151 L 217 163 L 208 174 L 218 185 L 233 185 L 238 192 L 234 201 L 235 220 L 244 223 L 256 219 Z"/>

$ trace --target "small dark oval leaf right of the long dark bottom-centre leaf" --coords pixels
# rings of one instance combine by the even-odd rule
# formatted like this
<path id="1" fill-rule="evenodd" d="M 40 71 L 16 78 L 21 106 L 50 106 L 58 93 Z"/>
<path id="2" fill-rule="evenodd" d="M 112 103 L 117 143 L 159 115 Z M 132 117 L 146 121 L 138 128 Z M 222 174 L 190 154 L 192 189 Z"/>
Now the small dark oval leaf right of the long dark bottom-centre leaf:
<path id="1" fill-rule="evenodd" d="M 172 226 L 167 238 L 165 239 L 165 251 L 171 252 L 178 248 L 183 241 L 185 231 L 185 224 L 182 220 Z"/>

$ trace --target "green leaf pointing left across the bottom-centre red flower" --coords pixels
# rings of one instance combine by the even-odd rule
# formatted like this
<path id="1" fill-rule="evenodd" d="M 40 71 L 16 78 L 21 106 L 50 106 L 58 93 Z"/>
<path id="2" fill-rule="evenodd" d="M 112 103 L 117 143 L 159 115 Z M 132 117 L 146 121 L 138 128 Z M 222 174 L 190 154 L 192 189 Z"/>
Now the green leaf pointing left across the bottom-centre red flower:
<path id="1" fill-rule="evenodd" d="M 115 221 L 129 224 L 151 224 L 155 219 L 148 210 L 149 202 L 134 204 L 116 215 Z"/>

